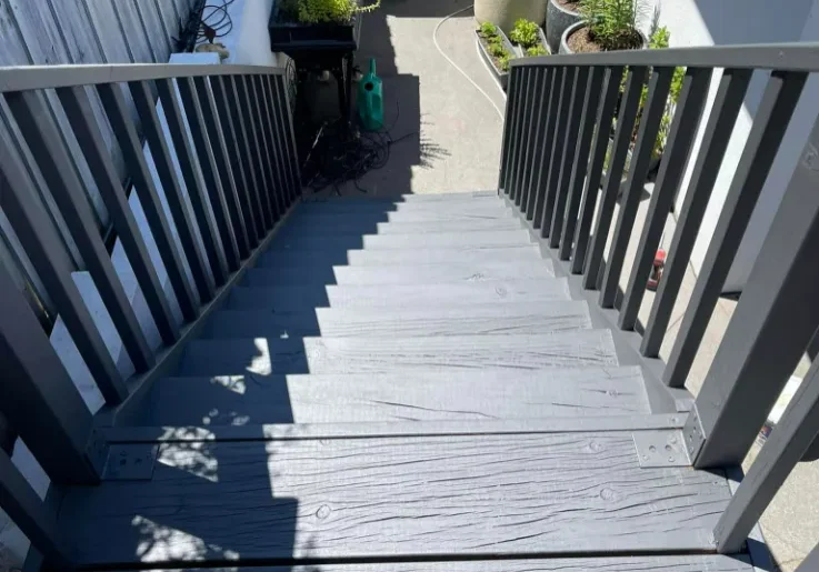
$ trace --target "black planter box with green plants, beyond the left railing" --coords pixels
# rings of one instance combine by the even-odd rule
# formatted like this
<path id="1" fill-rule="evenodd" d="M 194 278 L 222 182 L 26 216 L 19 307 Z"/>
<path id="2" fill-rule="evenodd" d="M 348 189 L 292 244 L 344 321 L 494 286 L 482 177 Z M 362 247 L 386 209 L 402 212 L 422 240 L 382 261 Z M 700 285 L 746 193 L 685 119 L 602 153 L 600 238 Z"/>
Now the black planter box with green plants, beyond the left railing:
<path id="1" fill-rule="evenodd" d="M 358 48 L 360 14 L 378 8 L 381 0 L 361 6 L 357 0 L 280 0 L 273 2 L 268 29 L 272 51 Z"/>

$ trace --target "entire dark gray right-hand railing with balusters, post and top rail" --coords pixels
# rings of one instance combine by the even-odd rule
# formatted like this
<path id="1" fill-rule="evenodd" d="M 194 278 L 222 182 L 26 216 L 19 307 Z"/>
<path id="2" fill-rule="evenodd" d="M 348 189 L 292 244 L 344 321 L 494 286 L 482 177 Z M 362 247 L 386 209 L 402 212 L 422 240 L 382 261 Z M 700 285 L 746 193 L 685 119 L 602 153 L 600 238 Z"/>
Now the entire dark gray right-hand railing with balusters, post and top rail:
<path id="1" fill-rule="evenodd" d="M 685 78 L 671 107 L 669 84 L 680 67 L 686 68 Z M 707 112 L 715 68 L 725 71 Z M 541 248 L 555 249 L 559 270 L 581 274 L 572 280 L 590 291 L 589 300 L 599 291 L 597 302 L 612 327 L 639 330 L 638 312 L 655 252 L 686 165 L 693 163 L 642 343 L 635 345 L 651 363 L 666 337 L 717 173 L 757 70 L 768 70 L 767 86 L 661 373 L 670 387 L 683 387 L 689 375 L 802 89 L 809 73 L 819 71 L 819 43 L 637 50 L 512 62 L 499 192 L 539 234 Z M 620 298 L 627 245 L 660 119 L 667 112 L 672 119 L 665 153 Z M 700 127 L 699 151 L 692 153 Z M 742 462 L 819 324 L 819 271 L 810 263 L 819 249 L 817 185 L 819 121 L 683 428 L 696 468 Z M 639 340 L 635 334 L 629 339 L 635 338 Z M 719 552 L 741 549 L 785 478 L 811 448 L 819 428 L 817 383 L 815 363 L 762 449 L 760 464 L 751 466 L 722 514 L 715 530 Z"/>

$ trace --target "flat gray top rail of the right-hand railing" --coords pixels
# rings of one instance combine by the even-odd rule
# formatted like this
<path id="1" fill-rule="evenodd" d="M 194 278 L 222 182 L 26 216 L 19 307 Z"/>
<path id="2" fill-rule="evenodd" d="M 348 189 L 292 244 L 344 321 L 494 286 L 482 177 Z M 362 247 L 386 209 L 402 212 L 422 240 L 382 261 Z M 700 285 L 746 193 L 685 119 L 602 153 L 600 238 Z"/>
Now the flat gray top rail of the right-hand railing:
<path id="1" fill-rule="evenodd" d="M 819 71 L 819 42 L 708 46 L 662 50 L 619 50 L 515 58 L 511 67 L 651 66 Z"/>

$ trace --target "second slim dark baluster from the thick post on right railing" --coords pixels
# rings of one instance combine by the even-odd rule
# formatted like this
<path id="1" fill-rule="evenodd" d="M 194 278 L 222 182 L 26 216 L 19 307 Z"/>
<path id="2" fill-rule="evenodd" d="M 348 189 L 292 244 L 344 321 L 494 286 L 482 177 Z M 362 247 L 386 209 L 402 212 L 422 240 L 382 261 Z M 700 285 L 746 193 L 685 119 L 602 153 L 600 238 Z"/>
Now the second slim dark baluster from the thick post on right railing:
<path id="1" fill-rule="evenodd" d="M 651 314 L 646 324 L 646 332 L 642 335 L 640 352 L 649 358 L 656 358 L 660 353 L 666 329 L 671 320 L 671 312 L 682 284 L 682 277 L 688 269 L 691 251 L 699 233 L 702 215 L 708 207 L 708 200 L 711 197 L 711 190 L 750 80 L 751 70 L 727 69 L 722 73 L 682 209 L 677 217 L 677 230 L 671 239 L 671 247 L 668 249 L 669 255 L 662 270 L 662 280 L 660 280 L 655 302 L 651 305 Z M 652 252 L 651 255 L 653 254 Z"/>

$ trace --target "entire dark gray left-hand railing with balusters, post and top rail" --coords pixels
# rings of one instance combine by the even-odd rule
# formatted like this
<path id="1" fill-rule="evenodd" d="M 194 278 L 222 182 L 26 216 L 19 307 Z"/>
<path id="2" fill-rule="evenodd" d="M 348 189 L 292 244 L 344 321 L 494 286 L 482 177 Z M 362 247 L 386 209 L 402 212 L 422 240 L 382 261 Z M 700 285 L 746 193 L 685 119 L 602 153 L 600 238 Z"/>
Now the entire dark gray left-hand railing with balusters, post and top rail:
<path id="1" fill-rule="evenodd" d="M 103 247 L 82 182 L 69 164 L 53 116 L 46 111 L 44 89 L 56 90 L 49 101 L 64 113 L 62 128 L 79 142 L 76 152 L 91 170 L 156 324 L 159 348 L 149 345 Z M 282 70 L 269 67 L 0 68 L 0 99 L 31 150 L 30 155 L 19 153 L 17 141 L 0 131 L 0 208 L 84 361 L 89 381 L 104 399 L 94 420 L 32 308 L 0 264 L 0 371 L 9 373 L 0 383 L 2 425 L 20 435 L 52 483 L 92 485 L 101 480 L 107 443 L 94 423 L 112 424 L 139 409 L 152 382 L 173 368 L 184 342 L 227 300 L 299 198 L 287 92 Z M 154 107 L 157 93 L 162 113 Z M 92 98 L 101 106 L 94 108 Z M 94 111 L 103 116 L 102 123 Z M 158 280 L 147 232 L 137 224 L 138 210 L 114 169 L 111 145 L 103 141 L 104 123 L 133 181 L 150 242 L 173 292 L 170 298 Z M 32 189 L 36 174 L 53 191 L 53 203 L 64 214 L 64 232 L 134 367 L 128 379 L 72 279 L 74 267 L 61 229 L 52 224 Z M 182 323 L 172 305 L 181 311 Z M 41 556 L 56 568 L 71 568 L 71 548 L 61 542 L 54 514 L 9 461 L 8 448 L 0 452 L 0 505 Z"/>

